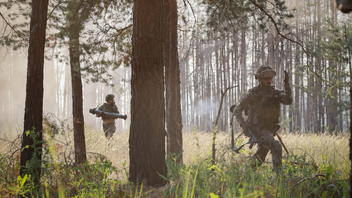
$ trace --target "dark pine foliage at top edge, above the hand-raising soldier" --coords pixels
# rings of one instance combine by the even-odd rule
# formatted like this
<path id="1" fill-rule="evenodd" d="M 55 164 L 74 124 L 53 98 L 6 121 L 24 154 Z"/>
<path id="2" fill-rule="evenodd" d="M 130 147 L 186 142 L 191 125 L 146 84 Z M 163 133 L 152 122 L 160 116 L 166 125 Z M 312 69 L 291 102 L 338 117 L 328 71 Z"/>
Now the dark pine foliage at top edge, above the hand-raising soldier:
<path id="1" fill-rule="evenodd" d="M 208 14 L 206 24 L 212 28 L 212 33 L 247 29 L 250 21 L 255 21 L 265 31 L 268 31 L 268 23 L 273 24 L 277 32 L 283 33 L 290 28 L 285 20 L 293 17 L 282 0 L 204 0 L 203 4 Z"/>

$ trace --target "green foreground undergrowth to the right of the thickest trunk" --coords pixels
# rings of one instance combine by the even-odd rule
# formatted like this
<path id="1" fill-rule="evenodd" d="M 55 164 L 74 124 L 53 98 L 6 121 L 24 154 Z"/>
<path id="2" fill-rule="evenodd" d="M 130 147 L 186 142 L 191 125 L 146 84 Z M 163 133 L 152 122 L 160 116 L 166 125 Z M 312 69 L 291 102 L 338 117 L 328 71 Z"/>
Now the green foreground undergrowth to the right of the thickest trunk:
<path id="1" fill-rule="evenodd" d="M 237 160 L 241 154 L 229 151 L 212 165 L 211 156 L 190 165 L 167 163 L 170 187 L 165 197 L 342 197 L 347 195 L 348 174 L 342 176 L 333 166 L 317 165 L 307 155 L 283 159 L 278 177 L 271 164 L 256 172 Z M 323 156 L 326 158 L 326 156 Z M 171 162 L 171 161 L 169 161 Z M 177 175 L 174 175 L 176 174 Z"/>

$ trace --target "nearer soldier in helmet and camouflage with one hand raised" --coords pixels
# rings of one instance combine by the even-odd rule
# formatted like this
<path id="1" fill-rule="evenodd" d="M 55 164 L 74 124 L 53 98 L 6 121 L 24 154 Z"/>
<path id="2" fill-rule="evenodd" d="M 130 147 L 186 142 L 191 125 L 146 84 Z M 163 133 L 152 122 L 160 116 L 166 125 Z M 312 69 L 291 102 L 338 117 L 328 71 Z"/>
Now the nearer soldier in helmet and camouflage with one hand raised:
<path id="1" fill-rule="evenodd" d="M 288 73 L 285 71 L 284 91 L 271 86 L 275 76 L 276 72 L 270 66 L 260 66 L 255 73 L 259 85 L 242 96 L 234 114 L 247 136 L 250 136 L 247 131 L 247 128 L 250 127 L 258 132 L 258 138 L 262 141 L 256 153 L 250 158 L 249 167 L 256 170 L 256 167 L 262 165 L 268 152 L 271 151 L 274 170 L 279 174 L 279 169 L 282 166 L 282 147 L 280 142 L 274 139 L 274 136 L 280 128 L 278 124 L 280 103 L 292 104 L 292 95 Z M 243 111 L 248 116 L 246 122 L 242 117 Z"/>

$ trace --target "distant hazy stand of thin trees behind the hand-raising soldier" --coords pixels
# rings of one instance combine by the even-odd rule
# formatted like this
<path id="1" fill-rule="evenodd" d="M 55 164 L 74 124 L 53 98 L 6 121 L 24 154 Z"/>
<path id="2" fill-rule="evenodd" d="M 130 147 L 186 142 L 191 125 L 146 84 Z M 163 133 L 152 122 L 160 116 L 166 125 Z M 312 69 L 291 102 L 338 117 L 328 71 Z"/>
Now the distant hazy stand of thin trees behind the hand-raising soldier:
<path id="1" fill-rule="evenodd" d="M 221 90 L 237 86 L 229 90 L 219 120 L 219 129 L 227 130 L 231 122 L 229 107 L 257 85 L 253 75 L 256 68 L 270 65 L 277 71 L 274 84 L 279 89 L 283 88 L 283 71 L 291 74 L 294 103 L 281 108 L 282 129 L 347 132 L 351 17 L 338 13 L 330 1 L 298 0 L 285 5 L 286 11 L 294 14 L 286 19 L 290 31 L 282 30 L 290 32 L 287 38 L 278 35 L 269 22 L 262 28 L 259 17 L 246 18 L 246 26 L 241 27 L 232 28 L 229 22 L 226 28 L 210 24 L 197 29 L 193 39 L 187 33 L 180 34 L 180 46 L 190 46 L 181 50 L 180 58 L 186 131 L 194 126 L 211 131 Z M 222 31 L 209 34 L 214 28 Z"/>

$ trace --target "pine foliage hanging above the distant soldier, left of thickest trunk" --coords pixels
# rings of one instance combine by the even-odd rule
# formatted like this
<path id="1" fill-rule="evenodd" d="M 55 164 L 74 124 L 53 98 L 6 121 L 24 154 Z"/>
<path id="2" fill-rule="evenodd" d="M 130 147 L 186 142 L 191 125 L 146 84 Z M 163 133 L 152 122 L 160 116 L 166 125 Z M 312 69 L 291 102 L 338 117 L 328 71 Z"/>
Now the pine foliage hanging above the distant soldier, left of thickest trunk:
<path id="1" fill-rule="evenodd" d="M 82 77 L 87 82 L 110 84 L 111 71 L 130 65 L 132 2 L 90 0 L 79 4 L 79 1 L 64 1 L 60 7 L 57 13 L 65 15 L 54 21 L 59 30 L 54 38 L 61 45 L 78 47 Z M 66 39 L 75 31 L 80 35 L 79 44 Z"/>

